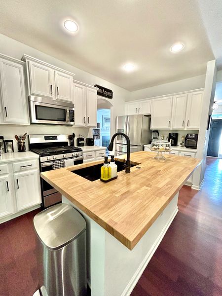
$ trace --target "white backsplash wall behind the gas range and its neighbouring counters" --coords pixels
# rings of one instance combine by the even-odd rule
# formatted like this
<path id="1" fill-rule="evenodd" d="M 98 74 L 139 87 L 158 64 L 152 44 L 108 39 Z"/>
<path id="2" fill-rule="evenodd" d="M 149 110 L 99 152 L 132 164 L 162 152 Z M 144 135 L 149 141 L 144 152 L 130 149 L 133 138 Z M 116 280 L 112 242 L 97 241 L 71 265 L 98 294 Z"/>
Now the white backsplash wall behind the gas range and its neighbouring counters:
<path id="1" fill-rule="evenodd" d="M 15 135 L 29 134 L 72 134 L 75 133 L 75 145 L 76 138 L 79 134 L 84 137 L 90 137 L 91 131 L 89 128 L 84 127 L 71 127 L 62 125 L 43 125 L 43 124 L 31 124 L 31 125 L 0 125 L 0 136 L 4 137 L 4 140 L 13 140 L 14 151 L 17 151 L 17 142 Z M 28 148 L 28 140 L 26 139 L 26 147 Z"/>

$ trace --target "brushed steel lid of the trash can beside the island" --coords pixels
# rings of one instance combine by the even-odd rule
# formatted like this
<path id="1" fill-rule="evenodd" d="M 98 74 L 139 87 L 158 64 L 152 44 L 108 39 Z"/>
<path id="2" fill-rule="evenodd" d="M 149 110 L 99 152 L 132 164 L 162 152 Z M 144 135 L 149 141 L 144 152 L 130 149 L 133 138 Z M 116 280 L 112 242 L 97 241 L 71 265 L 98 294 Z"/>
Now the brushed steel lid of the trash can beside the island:
<path id="1" fill-rule="evenodd" d="M 62 203 L 38 213 L 34 227 L 40 241 L 48 249 L 57 250 L 84 232 L 86 222 L 72 206 Z"/>

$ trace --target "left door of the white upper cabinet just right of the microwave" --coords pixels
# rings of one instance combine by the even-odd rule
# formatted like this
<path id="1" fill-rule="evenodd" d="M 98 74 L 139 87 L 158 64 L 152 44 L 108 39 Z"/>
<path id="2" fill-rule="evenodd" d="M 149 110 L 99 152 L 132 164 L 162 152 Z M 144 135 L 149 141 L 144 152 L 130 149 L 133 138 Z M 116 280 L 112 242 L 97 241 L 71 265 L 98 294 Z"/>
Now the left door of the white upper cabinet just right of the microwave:
<path id="1" fill-rule="evenodd" d="M 75 126 L 86 126 L 85 86 L 74 83 Z"/>

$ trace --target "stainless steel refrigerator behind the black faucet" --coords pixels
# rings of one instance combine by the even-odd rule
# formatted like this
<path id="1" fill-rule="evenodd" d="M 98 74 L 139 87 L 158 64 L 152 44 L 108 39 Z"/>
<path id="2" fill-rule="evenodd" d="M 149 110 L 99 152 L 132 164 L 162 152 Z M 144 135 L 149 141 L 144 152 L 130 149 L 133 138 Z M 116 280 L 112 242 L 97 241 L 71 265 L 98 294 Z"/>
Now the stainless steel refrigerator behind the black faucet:
<path id="1" fill-rule="evenodd" d="M 116 132 L 130 138 L 130 153 L 141 151 L 151 141 L 150 115 L 126 115 L 116 117 Z M 125 137 L 119 135 L 115 141 L 115 155 L 126 154 Z"/>

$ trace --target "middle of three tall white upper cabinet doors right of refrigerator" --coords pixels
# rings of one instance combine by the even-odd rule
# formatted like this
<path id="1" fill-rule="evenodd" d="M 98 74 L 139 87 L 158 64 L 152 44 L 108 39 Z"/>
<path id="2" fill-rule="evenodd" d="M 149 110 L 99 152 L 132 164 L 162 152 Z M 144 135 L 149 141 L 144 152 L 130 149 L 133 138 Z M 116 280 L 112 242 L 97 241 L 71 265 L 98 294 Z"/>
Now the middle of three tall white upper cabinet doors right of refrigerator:
<path id="1" fill-rule="evenodd" d="M 173 97 L 172 129 L 185 128 L 187 94 Z"/>

